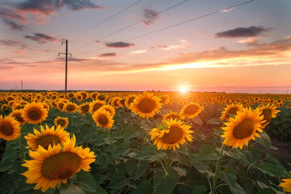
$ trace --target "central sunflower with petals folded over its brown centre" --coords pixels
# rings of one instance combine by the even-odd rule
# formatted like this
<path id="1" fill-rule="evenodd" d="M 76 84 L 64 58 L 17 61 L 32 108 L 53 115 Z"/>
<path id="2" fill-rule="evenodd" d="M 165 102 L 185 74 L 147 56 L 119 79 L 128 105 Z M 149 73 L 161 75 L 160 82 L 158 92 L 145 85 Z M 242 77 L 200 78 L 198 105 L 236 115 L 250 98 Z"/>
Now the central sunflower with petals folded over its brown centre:
<path id="1" fill-rule="evenodd" d="M 160 125 L 158 128 L 154 128 L 148 134 L 151 135 L 150 140 L 155 140 L 154 145 L 157 145 L 158 149 L 176 149 L 179 144 L 192 141 L 193 136 L 190 133 L 193 133 L 192 130 L 189 130 L 191 126 L 183 125 L 183 121 L 178 120 L 177 118 L 170 121 L 165 121 L 164 125 Z"/>

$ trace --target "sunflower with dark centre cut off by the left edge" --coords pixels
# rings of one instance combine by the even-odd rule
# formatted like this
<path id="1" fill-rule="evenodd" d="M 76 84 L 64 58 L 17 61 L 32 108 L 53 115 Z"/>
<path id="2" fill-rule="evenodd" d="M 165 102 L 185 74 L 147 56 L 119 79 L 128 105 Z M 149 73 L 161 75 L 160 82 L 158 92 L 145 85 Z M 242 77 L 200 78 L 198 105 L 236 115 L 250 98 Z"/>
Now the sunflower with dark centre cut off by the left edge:
<path id="1" fill-rule="evenodd" d="M 15 140 L 20 136 L 20 123 L 12 116 L 0 116 L 0 138 L 6 141 Z"/>

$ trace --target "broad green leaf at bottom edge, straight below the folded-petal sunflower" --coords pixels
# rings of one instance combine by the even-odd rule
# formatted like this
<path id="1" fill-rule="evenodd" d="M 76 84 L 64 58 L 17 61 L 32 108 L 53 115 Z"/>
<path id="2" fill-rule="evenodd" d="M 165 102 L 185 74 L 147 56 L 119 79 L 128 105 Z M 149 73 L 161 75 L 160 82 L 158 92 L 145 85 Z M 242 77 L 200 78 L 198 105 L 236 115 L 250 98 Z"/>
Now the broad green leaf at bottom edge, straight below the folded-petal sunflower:
<path id="1" fill-rule="evenodd" d="M 178 172 L 171 170 L 170 173 L 164 174 L 158 171 L 154 174 L 154 186 L 157 194 L 170 194 L 176 187 L 179 181 Z"/>

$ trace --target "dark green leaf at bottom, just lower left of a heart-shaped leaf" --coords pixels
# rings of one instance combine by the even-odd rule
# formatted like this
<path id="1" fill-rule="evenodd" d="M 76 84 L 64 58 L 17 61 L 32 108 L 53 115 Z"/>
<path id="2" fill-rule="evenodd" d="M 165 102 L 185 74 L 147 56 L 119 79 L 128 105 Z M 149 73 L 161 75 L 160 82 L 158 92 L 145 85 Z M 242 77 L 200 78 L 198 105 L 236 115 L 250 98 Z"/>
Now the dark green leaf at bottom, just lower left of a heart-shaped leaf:
<path id="1" fill-rule="evenodd" d="M 113 174 L 113 177 L 106 188 L 121 189 L 127 185 L 129 185 L 129 179 L 125 177 L 125 172 L 123 170 L 118 169 Z"/>

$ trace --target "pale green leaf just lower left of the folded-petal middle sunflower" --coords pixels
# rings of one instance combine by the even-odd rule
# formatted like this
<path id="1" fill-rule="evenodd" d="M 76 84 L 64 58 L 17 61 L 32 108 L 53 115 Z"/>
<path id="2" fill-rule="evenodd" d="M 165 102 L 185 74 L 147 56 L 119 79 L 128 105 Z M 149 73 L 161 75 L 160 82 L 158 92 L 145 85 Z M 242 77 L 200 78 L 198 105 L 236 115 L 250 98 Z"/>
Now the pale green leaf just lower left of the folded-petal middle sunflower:
<path id="1" fill-rule="evenodd" d="M 134 158 L 138 160 L 146 160 L 148 162 L 160 161 L 161 157 L 166 154 L 158 151 L 157 146 L 146 146 Z"/>

